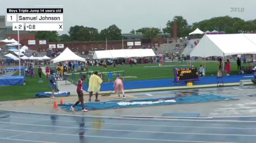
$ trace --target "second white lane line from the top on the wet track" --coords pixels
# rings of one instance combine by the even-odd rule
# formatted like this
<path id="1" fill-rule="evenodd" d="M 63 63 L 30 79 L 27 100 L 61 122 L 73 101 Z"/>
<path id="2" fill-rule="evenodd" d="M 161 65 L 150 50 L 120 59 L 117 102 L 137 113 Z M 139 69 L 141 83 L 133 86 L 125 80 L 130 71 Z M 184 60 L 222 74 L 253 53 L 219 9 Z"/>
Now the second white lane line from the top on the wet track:
<path id="1" fill-rule="evenodd" d="M 1 117 L 1 116 L 0 116 Z M 227 116 L 229 117 L 229 116 Z M 232 117 L 232 116 L 231 116 Z M 237 116 L 239 117 L 239 116 Z M 14 117 L 11 118 L 20 118 L 20 119 L 33 119 L 41 121 L 52 121 L 51 119 L 39 119 L 39 118 L 24 118 L 24 117 Z M 89 123 L 89 124 L 100 124 L 101 122 L 80 122 L 80 121 L 66 121 L 66 120 L 57 120 L 58 122 L 71 122 L 71 123 Z M 187 128 L 206 128 L 206 129 L 256 129 L 256 127 L 209 127 L 209 126 L 170 126 L 170 125 L 148 125 L 148 124 L 121 124 L 121 123 L 104 123 L 109 125 L 128 125 L 128 126 L 156 126 L 156 127 L 187 127 Z"/>

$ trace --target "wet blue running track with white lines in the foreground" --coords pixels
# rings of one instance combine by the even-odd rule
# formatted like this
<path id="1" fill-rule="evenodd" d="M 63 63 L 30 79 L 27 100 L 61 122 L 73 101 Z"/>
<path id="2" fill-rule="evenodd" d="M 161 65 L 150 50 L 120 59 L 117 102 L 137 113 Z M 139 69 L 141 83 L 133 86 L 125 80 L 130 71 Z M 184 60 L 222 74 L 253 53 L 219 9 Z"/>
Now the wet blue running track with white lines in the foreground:
<path id="1" fill-rule="evenodd" d="M 256 118 L 147 119 L 2 110 L 0 132 L 0 142 L 254 142 Z"/>

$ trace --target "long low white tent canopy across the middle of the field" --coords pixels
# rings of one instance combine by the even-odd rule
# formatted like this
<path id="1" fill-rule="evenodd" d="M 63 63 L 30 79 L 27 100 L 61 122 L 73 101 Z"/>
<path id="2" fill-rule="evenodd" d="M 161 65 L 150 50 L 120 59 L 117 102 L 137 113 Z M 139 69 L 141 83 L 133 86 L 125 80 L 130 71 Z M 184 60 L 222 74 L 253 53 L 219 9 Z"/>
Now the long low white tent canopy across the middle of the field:
<path id="1" fill-rule="evenodd" d="M 93 59 L 103 58 L 130 58 L 130 57 L 154 57 L 155 52 L 152 49 L 120 49 L 95 51 Z"/>

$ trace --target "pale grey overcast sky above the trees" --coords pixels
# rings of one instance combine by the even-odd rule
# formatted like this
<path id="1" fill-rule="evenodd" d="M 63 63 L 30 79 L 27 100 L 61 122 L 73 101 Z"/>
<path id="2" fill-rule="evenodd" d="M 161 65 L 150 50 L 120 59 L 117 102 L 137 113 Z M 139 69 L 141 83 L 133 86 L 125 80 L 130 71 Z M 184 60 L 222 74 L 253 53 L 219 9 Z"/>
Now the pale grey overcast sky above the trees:
<path id="1" fill-rule="evenodd" d="M 74 25 L 101 31 L 112 24 L 129 33 L 141 27 L 164 28 L 174 16 L 183 16 L 190 25 L 219 16 L 252 20 L 256 19 L 255 6 L 255 0 L 9 0 L 1 2 L 0 15 L 6 16 L 7 8 L 63 7 L 64 31 L 59 34 Z M 231 7 L 243 8 L 244 12 L 231 12 Z"/>

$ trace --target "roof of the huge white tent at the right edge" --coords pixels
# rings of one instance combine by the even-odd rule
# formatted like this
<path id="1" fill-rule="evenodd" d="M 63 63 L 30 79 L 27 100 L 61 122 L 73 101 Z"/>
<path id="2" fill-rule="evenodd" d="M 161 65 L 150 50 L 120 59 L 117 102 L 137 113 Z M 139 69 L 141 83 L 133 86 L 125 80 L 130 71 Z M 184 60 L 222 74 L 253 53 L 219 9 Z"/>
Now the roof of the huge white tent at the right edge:
<path id="1" fill-rule="evenodd" d="M 190 57 L 256 54 L 256 34 L 204 35 Z"/>

